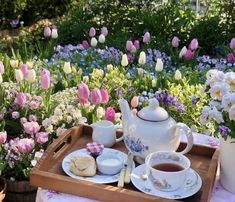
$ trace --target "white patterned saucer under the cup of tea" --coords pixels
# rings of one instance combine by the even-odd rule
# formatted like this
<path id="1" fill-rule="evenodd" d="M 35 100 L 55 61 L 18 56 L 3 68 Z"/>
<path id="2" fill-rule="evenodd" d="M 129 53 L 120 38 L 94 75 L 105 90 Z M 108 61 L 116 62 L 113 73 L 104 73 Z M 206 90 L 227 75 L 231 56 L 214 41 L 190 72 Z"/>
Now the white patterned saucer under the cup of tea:
<path id="1" fill-rule="evenodd" d="M 146 194 L 167 199 L 183 199 L 197 193 L 202 186 L 201 177 L 193 169 L 190 169 L 183 187 L 172 192 L 160 191 L 154 187 L 149 179 L 143 179 L 143 177 L 141 177 L 146 173 L 145 167 L 145 164 L 136 167 L 132 171 L 131 181 L 137 189 Z"/>

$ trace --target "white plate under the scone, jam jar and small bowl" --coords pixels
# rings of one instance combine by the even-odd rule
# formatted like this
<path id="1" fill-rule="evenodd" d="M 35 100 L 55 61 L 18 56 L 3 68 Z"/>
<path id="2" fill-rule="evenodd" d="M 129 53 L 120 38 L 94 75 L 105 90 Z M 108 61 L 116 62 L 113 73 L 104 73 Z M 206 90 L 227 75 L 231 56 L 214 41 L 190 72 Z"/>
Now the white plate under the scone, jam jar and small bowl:
<path id="1" fill-rule="evenodd" d="M 115 150 L 115 149 L 104 148 L 102 154 L 105 154 L 105 153 L 114 154 L 114 155 L 119 156 L 121 159 L 123 159 L 123 165 L 127 160 L 127 155 L 125 153 L 118 151 L 118 150 Z M 89 181 L 89 182 L 95 182 L 95 183 L 99 183 L 99 184 L 108 184 L 108 183 L 113 183 L 113 182 L 118 181 L 119 173 L 115 174 L 115 175 L 104 175 L 102 173 L 97 173 L 93 177 L 81 177 L 81 176 L 74 175 L 70 171 L 71 159 L 74 156 L 84 156 L 84 155 L 89 155 L 89 153 L 87 152 L 87 150 L 85 148 L 76 150 L 76 151 L 68 154 L 67 156 L 65 156 L 65 158 L 62 161 L 62 168 L 63 168 L 64 172 L 72 178 L 84 180 L 84 181 Z M 135 163 L 133 162 L 133 169 L 134 168 L 135 168 Z"/>

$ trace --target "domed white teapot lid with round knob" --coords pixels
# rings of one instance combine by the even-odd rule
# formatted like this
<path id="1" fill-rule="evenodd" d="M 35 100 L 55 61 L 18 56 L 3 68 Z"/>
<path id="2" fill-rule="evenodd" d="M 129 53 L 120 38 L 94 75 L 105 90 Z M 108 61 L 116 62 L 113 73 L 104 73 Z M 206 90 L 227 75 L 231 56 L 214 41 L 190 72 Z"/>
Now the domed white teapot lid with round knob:
<path id="1" fill-rule="evenodd" d="M 149 106 L 141 109 L 137 116 L 144 120 L 150 122 L 160 122 L 165 121 L 169 118 L 167 111 L 159 106 L 159 102 L 156 98 L 149 100 Z"/>

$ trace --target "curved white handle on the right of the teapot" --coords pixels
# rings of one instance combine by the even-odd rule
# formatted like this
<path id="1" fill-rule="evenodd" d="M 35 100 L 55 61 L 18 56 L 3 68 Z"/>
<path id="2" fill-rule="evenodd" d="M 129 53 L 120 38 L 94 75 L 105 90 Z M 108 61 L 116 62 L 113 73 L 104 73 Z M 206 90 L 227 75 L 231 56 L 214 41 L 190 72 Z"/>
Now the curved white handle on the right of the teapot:
<path id="1" fill-rule="evenodd" d="M 176 123 L 174 126 L 172 126 L 171 129 L 173 129 L 173 131 L 174 131 L 177 128 L 182 129 L 184 131 L 184 134 L 186 134 L 186 137 L 187 137 L 187 146 L 186 146 L 186 148 L 183 151 L 179 152 L 181 154 L 186 154 L 193 147 L 193 134 L 192 134 L 192 130 L 186 124 L 184 124 L 184 123 Z"/>

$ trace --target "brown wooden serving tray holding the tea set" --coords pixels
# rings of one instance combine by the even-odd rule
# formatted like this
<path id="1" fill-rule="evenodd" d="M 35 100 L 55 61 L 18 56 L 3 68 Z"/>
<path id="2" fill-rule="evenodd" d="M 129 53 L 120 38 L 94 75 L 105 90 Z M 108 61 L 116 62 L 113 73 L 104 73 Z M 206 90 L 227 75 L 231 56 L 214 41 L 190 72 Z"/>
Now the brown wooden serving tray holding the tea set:
<path id="1" fill-rule="evenodd" d="M 67 130 L 48 147 L 38 164 L 32 169 L 30 184 L 100 201 L 177 201 L 144 194 L 131 183 L 125 184 L 124 188 L 119 188 L 117 183 L 96 184 L 67 176 L 61 166 L 63 158 L 72 151 L 84 148 L 86 143 L 91 142 L 91 134 L 92 128 L 84 125 Z M 179 150 L 184 147 L 185 143 L 181 143 Z M 113 148 L 127 153 L 123 142 Z M 192 168 L 201 176 L 203 185 L 197 194 L 181 201 L 209 202 L 216 177 L 219 151 L 211 147 L 194 145 L 186 156 L 190 158 Z"/>

